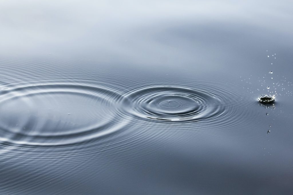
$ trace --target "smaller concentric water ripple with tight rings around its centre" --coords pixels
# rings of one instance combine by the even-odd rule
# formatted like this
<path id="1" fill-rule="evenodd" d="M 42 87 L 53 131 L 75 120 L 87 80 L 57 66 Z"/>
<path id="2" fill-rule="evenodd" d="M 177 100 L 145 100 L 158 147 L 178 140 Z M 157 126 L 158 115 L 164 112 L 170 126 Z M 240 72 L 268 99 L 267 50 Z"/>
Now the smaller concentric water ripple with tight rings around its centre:
<path id="1" fill-rule="evenodd" d="M 213 94 L 180 86 L 137 89 L 126 96 L 124 103 L 135 117 L 170 122 L 208 120 L 224 111 Z"/>

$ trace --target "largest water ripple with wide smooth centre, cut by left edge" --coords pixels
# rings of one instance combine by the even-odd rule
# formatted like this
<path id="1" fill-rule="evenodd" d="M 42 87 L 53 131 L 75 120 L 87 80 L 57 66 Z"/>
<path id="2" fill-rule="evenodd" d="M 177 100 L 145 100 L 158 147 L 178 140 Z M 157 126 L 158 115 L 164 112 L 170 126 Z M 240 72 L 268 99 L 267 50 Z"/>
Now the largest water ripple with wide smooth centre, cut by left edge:
<path id="1" fill-rule="evenodd" d="M 39 84 L 0 90 L 1 142 L 76 144 L 119 130 L 121 94 L 81 84 Z"/>

